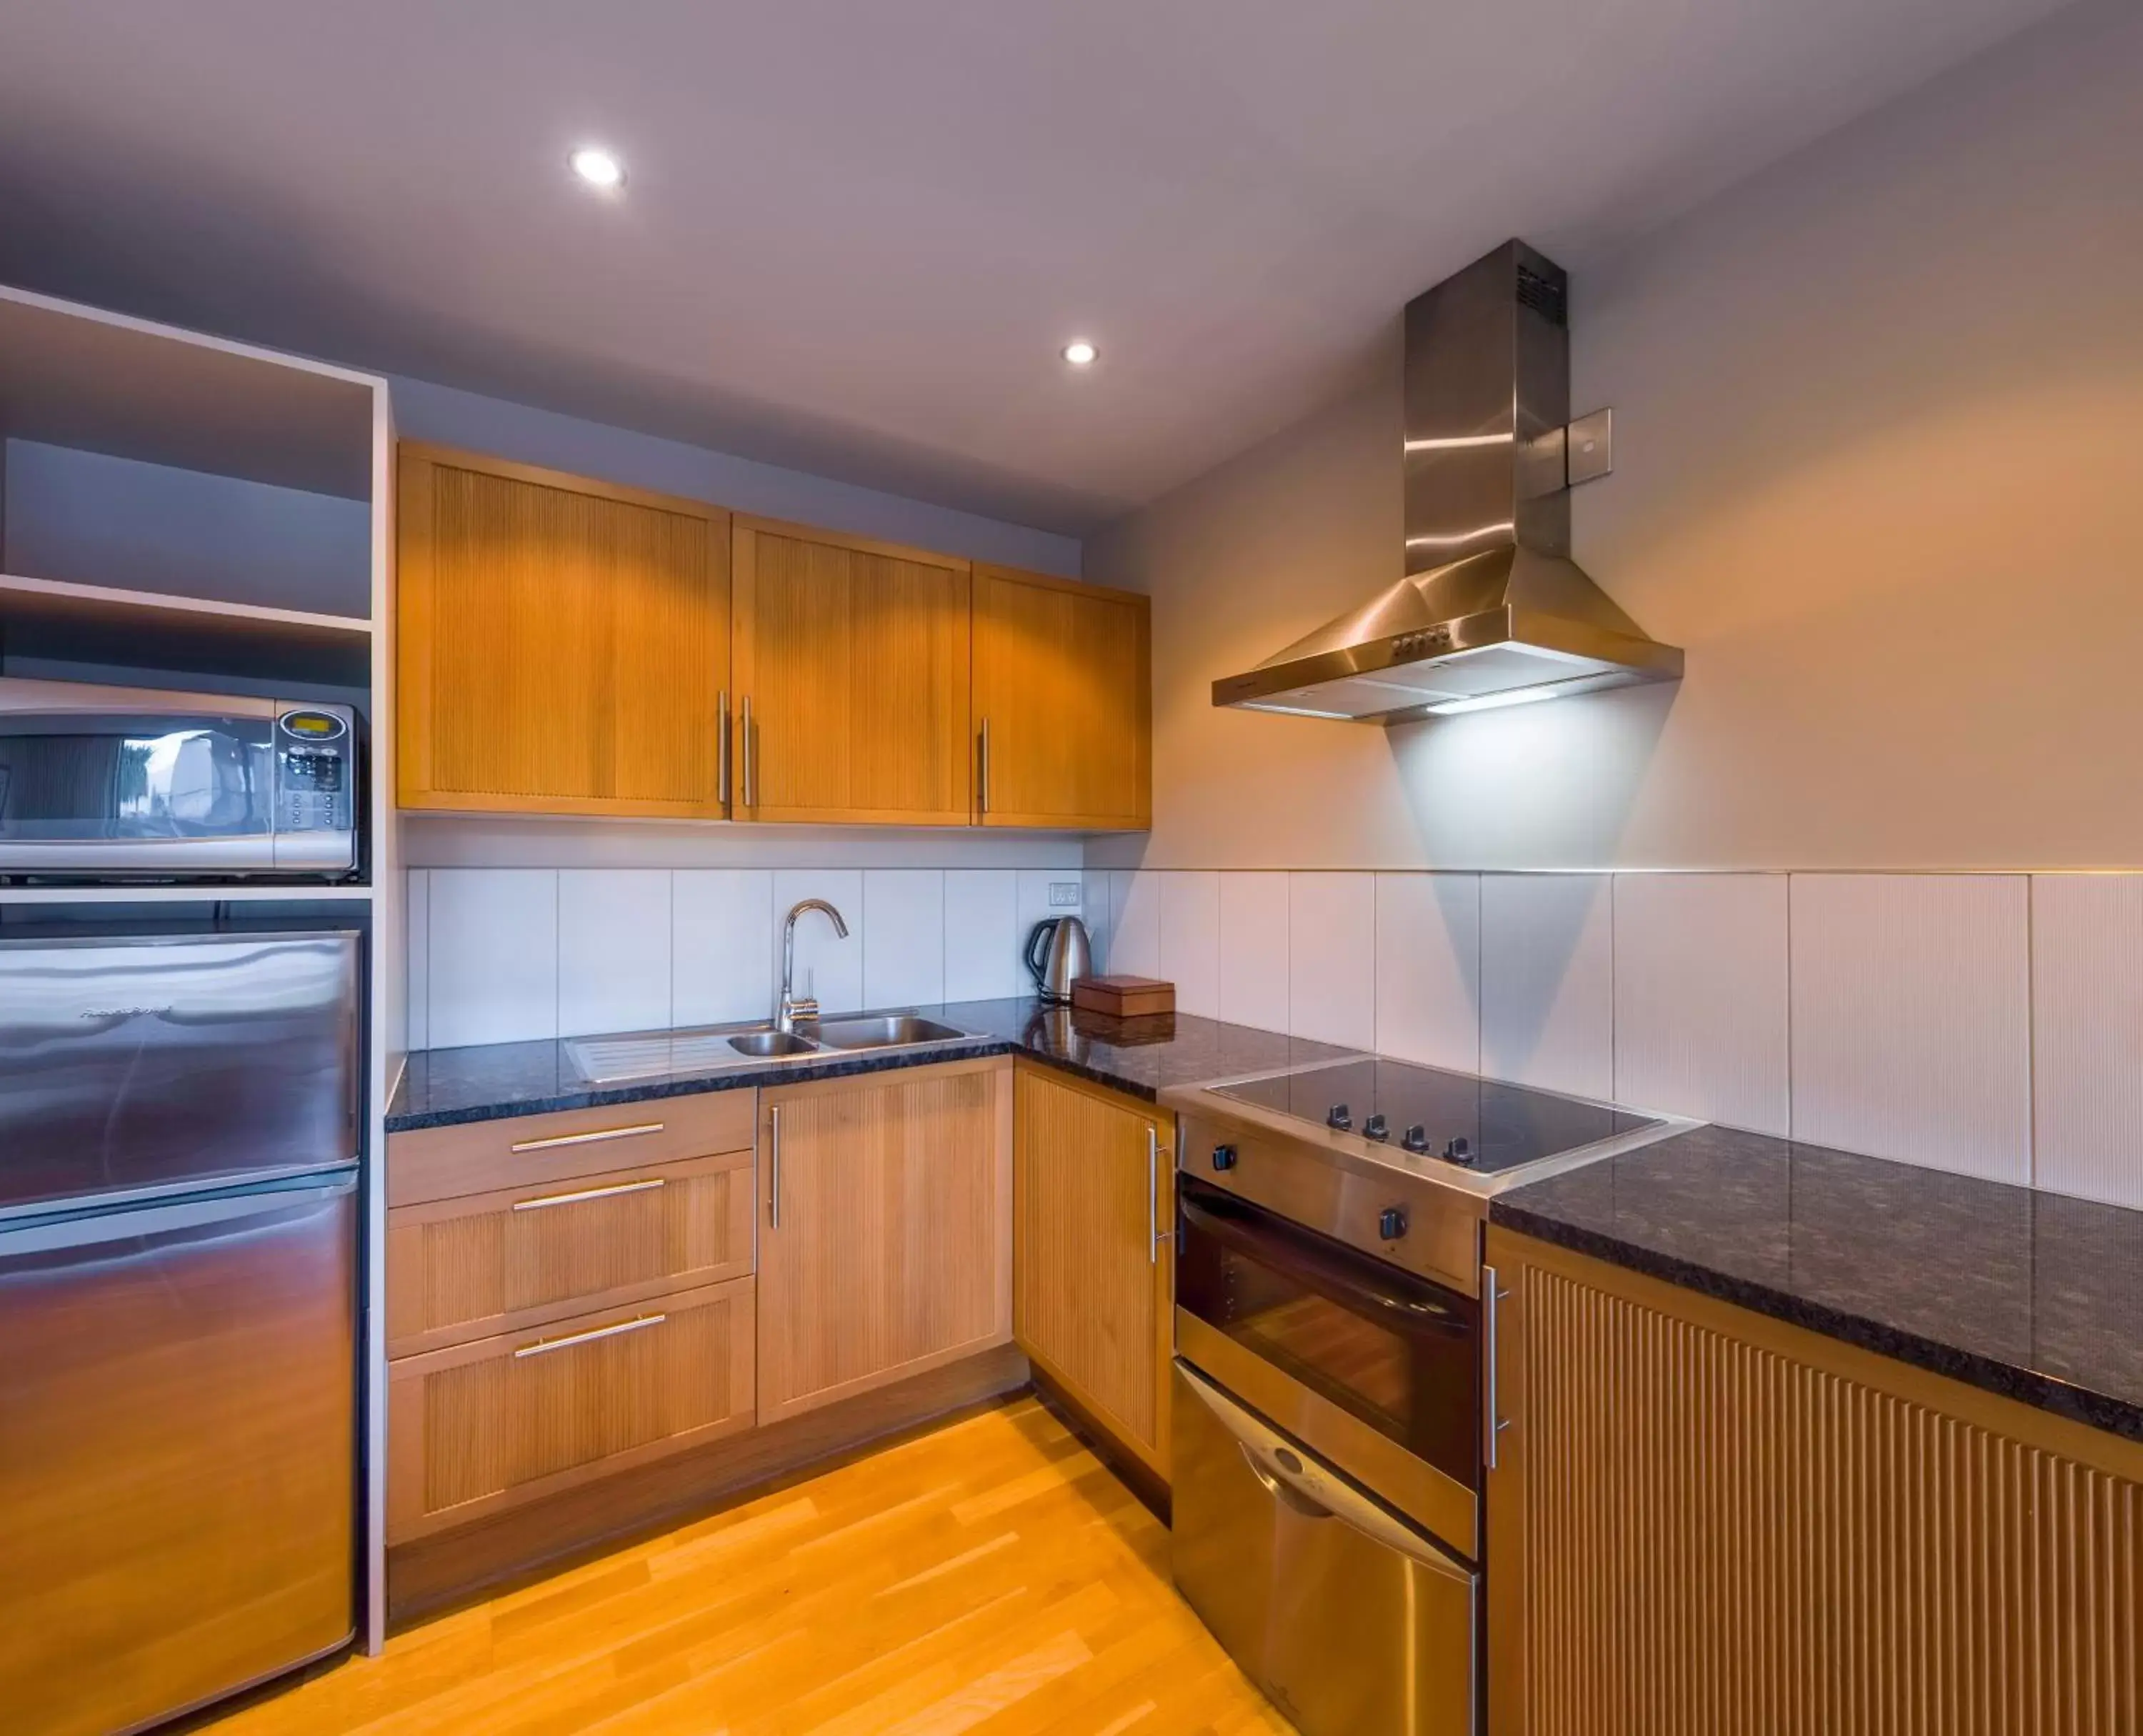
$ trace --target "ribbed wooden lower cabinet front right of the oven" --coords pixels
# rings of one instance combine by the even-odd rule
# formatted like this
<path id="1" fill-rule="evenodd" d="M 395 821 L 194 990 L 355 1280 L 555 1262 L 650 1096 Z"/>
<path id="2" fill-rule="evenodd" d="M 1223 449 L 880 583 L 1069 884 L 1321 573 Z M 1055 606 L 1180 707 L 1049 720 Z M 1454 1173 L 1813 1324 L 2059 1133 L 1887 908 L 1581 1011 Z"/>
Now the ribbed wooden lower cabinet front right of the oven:
<path id="1" fill-rule="evenodd" d="M 2143 1447 L 1489 1228 L 1494 1736 L 2143 1730 Z"/>

